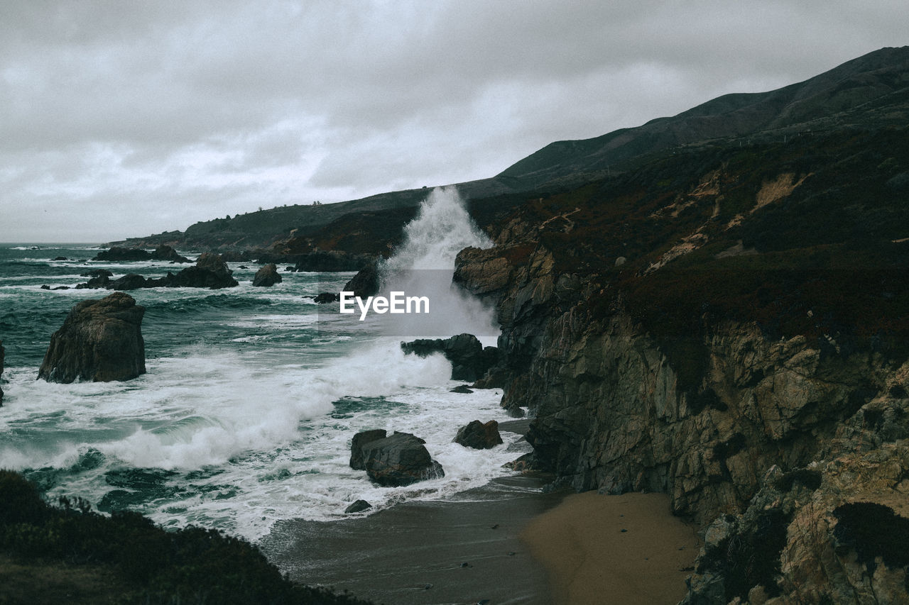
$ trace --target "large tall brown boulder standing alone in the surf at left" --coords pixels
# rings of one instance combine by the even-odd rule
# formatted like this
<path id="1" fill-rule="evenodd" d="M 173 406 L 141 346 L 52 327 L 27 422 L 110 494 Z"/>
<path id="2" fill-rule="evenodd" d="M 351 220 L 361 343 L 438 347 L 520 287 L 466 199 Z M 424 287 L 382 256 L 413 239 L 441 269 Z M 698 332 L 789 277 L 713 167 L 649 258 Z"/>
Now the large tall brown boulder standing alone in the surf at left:
<path id="1" fill-rule="evenodd" d="M 142 316 L 129 294 L 79 302 L 51 336 L 38 378 L 47 382 L 127 381 L 145 373 Z"/>

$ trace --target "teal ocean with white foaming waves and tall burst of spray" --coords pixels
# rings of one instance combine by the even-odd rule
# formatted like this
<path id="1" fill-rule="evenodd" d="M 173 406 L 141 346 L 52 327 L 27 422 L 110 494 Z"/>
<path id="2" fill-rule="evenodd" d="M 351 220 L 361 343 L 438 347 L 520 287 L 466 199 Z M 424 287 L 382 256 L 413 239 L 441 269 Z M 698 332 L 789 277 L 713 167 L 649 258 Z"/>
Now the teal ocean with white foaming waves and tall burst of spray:
<path id="1" fill-rule="evenodd" d="M 389 264 L 451 272 L 454 254 L 467 245 L 491 243 L 454 190 L 435 190 Z M 501 390 L 450 392 L 461 383 L 450 380 L 450 363 L 438 354 L 405 355 L 400 326 L 389 332 L 382 317 L 359 322 L 341 315 L 337 303 L 310 298 L 337 292 L 354 273 L 279 267 L 282 283 L 256 288 L 258 265 L 230 263 L 235 288 L 131 291 L 145 307 L 145 375 L 126 382 L 35 380 L 67 312 L 108 294 L 53 288 L 73 288 L 92 269 L 160 277 L 182 268 L 89 260 L 99 250 L 0 244 L 6 349 L 0 467 L 21 471 L 49 499 L 77 496 L 99 511 L 141 512 L 165 528 L 194 524 L 257 541 L 275 521 L 348 519 L 345 508 L 359 499 L 373 504 L 357 513 L 368 515 L 399 502 L 463 498 L 509 474 L 504 462 L 529 451 L 509 432 L 493 450 L 454 443 L 467 422 L 507 420 Z M 200 251 L 179 252 L 193 258 Z M 461 315 L 437 312 L 439 336 L 484 332 L 484 343 L 494 343 L 489 310 L 466 305 L 456 293 L 449 302 Z M 415 433 L 445 477 L 402 488 L 374 485 L 365 471 L 348 466 L 351 438 L 366 429 Z"/>

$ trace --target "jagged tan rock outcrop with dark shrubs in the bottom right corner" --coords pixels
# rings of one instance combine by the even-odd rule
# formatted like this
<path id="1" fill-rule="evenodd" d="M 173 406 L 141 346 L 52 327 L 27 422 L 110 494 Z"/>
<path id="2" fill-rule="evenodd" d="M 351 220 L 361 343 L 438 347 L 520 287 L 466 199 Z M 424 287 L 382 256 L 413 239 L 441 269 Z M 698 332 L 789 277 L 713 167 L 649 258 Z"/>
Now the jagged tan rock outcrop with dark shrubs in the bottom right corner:
<path id="1" fill-rule="evenodd" d="M 907 404 L 890 402 L 904 432 Z M 906 602 L 909 441 L 850 442 L 804 469 L 774 465 L 744 512 L 713 521 L 683 603 Z"/>

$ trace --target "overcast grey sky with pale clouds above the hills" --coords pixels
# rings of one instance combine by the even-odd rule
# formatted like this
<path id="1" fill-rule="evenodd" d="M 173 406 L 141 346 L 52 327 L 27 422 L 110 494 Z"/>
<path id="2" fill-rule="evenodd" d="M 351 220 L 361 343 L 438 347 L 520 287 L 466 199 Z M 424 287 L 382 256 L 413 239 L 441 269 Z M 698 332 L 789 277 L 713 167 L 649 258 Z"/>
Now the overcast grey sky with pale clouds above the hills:
<path id="1" fill-rule="evenodd" d="M 4 0 L 0 242 L 486 178 L 907 44 L 905 0 Z"/>

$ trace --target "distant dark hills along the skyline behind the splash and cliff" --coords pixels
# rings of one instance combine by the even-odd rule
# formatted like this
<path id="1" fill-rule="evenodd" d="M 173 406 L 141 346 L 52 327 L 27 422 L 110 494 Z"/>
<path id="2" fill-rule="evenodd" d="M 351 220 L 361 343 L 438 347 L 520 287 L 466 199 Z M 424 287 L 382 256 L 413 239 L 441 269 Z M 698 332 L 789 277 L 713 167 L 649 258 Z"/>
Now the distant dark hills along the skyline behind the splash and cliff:
<path id="1" fill-rule="evenodd" d="M 478 209 L 512 199 L 513 194 L 538 197 L 540 193 L 597 180 L 645 164 L 654 155 L 672 154 L 704 142 L 753 144 L 843 127 L 867 130 L 906 124 L 907 107 L 909 47 L 884 48 L 775 91 L 727 94 L 637 128 L 583 141 L 549 144 L 501 174 L 457 186 Z M 397 243 L 398 227 L 411 216 L 408 209 L 414 209 L 425 194 L 425 189 L 415 189 L 350 202 L 278 207 L 195 223 L 185 232 L 171 231 L 112 244 L 154 247 L 166 243 L 184 250 L 252 250 L 297 238 L 292 248 L 300 251 L 332 246 L 331 249 L 348 253 L 382 253 Z M 490 212 L 488 208 L 485 211 Z M 342 233 L 352 222 L 351 216 L 362 213 L 372 213 L 379 231 L 373 233 L 365 225 L 365 229 L 355 229 L 357 234 Z"/>

